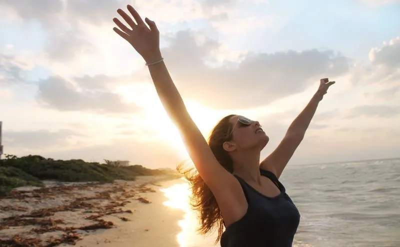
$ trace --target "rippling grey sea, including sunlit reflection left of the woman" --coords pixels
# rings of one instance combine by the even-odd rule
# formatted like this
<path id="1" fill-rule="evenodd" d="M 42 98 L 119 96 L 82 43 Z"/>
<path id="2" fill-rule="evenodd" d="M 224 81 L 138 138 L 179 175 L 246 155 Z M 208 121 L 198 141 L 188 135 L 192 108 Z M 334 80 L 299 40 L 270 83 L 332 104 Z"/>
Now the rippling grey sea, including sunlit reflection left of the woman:
<path id="1" fill-rule="evenodd" d="M 280 181 L 301 214 L 293 246 L 400 246 L 400 158 L 288 165 Z M 212 246 L 215 233 L 196 233 L 188 184 L 162 191 L 184 211 L 180 247 Z"/>

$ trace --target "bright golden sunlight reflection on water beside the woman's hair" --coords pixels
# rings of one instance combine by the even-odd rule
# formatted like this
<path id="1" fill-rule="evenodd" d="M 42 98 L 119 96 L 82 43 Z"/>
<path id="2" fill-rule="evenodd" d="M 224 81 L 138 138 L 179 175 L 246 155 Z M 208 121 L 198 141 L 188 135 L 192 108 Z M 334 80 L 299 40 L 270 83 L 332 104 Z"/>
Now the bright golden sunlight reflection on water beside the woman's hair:
<path id="1" fill-rule="evenodd" d="M 163 188 L 161 191 L 168 198 L 163 202 L 171 208 L 180 209 L 184 212 L 183 219 L 178 221 L 181 231 L 177 234 L 177 241 L 180 247 L 213 246 L 216 233 L 210 236 L 199 235 L 196 232 L 198 227 L 197 214 L 190 207 L 190 188 L 189 184 L 182 179 L 181 183 L 176 183 L 170 187 Z M 215 246 L 219 246 L 219 243 Z"/>

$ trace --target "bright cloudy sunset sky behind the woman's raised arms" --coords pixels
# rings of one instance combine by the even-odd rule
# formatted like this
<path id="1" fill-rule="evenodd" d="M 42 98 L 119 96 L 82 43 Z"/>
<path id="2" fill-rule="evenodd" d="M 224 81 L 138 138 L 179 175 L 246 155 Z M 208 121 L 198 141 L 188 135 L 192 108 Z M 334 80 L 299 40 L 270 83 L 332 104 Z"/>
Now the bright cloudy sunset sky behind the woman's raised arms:
<path id="1" fill-rule="evenodd" d="M 316 91 L 290 164 L 400 156 L 400 0 L 0 0 L 4 153 L 175 167 L 187 152 L 144 60 L 112 30 L 133 5 L 204 137 L 258 120 L 270 153 Z"/>

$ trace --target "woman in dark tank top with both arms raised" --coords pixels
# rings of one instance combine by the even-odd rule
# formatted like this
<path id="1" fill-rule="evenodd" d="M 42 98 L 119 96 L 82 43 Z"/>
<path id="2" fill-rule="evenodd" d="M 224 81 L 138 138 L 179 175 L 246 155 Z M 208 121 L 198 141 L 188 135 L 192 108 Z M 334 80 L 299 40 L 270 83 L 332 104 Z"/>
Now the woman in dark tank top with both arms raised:
<path id="1" fill-rule="evenodd" d="M 317 92 L 288 128 L 278 147 L 260 162 L 268 136 L 258 121 L 228 115 L 214 127 L 208 143 L 189 116 L 159 49 L 154 21 L 141 19 L 128 5 L 130 26 L 113 18 L 114 31 L 144 58 L 157 94 L 181 132 L 196 172 L 182 171 L 192 186 L 201 233 L 218 229 L 221 246 L 291 246 L 300 215 L 278 178 L 301 142 L 318 102 L 334 81 L 321 79 Z M 198 173 L 197 173 L 198 172 Z M 226 230 L 222 233 L 223 227 Z"/>

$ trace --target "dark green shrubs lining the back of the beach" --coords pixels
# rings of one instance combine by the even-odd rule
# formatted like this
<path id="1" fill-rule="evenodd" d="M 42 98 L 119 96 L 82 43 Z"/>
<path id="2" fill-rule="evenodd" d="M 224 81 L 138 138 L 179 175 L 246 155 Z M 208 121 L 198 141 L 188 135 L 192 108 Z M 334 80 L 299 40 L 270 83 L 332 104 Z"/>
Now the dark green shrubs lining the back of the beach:
<path id="1" fill-rule="evenodd" d="M 138 175 L 171 173 L 148 169 L 138 164 L 115 166 L 85 162 L 81 159 L 54 160 L 39 155 L 22 157 L 5 155 L 5 157 L 0 159 L 0 195 L 7 194 L 10 189 L 18 186 L 42 186 L 41 180 L 112 182 L 115 179 L 134 180 Z"/>

